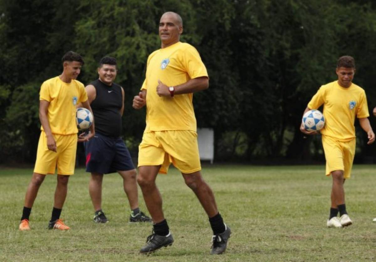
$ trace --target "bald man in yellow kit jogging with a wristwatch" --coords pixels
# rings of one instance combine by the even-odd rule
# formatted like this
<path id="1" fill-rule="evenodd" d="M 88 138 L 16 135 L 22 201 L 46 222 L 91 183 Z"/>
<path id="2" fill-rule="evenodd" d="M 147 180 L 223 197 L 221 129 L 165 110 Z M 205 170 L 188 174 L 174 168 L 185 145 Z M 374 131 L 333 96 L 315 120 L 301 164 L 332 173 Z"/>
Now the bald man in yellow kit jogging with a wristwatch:
<path id="1" fill-rule="evenodd" d="M 213 230 L 212 254 L 226 250 L 231 230 L 218 212 L 214 194 L 201 175 L 193 92 L 209 87 L 206 67 L 197 50 L 179 41 L 182 18 L 166 12 L 159 21 L 161 49 L 147 59 L 146 77 L 133 108 L 146 105 L 146 129 L 139 145 L 137 181 L 153 219 L 153 234 L 140 253 L 167 247 L 174 241 L 164 218 L 162 198 L 155 184 L 158 173 L 173 165 L 182 173 L 209 217 Z"/>

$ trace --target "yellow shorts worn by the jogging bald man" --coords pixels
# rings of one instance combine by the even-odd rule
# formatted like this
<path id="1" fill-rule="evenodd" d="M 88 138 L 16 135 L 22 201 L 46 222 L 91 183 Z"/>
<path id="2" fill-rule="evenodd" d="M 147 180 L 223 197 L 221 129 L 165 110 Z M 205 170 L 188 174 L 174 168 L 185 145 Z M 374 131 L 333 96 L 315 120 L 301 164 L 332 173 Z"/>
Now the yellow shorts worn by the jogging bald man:
<path id="1" fill-rule="evenodd" d="M 144 133 L 138 147 L 138 167 L 161 165 L 159 173 L 167 174 L 171 163 L 185 174 L 201 170 L 197 133 L 191 130 Z"/>

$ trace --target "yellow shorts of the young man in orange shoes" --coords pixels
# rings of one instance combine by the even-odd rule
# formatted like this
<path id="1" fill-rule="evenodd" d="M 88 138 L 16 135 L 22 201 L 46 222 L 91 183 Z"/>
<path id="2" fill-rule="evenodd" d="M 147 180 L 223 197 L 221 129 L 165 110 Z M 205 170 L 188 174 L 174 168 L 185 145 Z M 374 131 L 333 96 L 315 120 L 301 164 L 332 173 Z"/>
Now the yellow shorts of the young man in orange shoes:
<path id="1" fill-rule="evenodd" d="M 56 141 L 57 153 L 48 149 L 45 132 L 41 132 L 34 173 L 55 174 L 57 166 L 59 175 L 73 175 L 76 164 L 77 134 L 53 134 L 53 137 Z"/>

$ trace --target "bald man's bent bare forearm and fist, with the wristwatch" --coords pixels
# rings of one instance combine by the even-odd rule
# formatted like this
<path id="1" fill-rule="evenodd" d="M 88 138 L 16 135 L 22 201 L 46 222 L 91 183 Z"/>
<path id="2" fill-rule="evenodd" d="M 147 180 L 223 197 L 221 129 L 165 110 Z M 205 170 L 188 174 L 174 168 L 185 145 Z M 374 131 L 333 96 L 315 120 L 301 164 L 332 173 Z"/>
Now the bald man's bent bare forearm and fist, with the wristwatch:
<path id="1" fill-rule="evenodd" d="M 185 83 L 182 83 L 181 85 L 174 86 L 175 88 L 175 95 L 180 94 L 190 94 L 193 92 L 205 90 L 209 88 L 209 78 L 206 76 L 197 77 L 188 80 Z M 158 86 L 157 86 L 157 94 L 159 96 L 170 96 L 170 91 L 168 91 L 168 86 L 162 83 L 160 80 L 158 80 Z"/>

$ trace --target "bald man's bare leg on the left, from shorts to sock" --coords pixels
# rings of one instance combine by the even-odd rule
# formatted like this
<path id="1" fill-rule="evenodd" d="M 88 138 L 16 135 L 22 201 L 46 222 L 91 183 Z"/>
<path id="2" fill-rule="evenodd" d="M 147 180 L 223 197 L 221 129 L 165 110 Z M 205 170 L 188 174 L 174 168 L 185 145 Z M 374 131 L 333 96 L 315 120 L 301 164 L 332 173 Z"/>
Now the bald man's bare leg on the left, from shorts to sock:
<path id="1" fill-rule="evenodd" d="M 141 187 L 147 210 L 154 223 L 164 220 L 162 196 L 155 184 L 160 166 L 142 166 L 138 169 L 137 182 Z"/>

